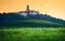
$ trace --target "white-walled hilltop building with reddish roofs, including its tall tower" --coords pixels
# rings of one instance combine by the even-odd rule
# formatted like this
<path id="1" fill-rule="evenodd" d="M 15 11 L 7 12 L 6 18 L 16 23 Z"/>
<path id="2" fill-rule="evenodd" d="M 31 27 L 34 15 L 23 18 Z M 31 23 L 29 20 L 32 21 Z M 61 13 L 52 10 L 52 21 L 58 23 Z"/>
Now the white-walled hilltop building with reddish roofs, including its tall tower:
<path id="1" fill-rule="evenodd" d="M 27 16 L 27 15 L 36 15 L 39 14 L 38 11 L 32 11 L 29 9 L 29 5 L 27 5 L 26 11 L 20 11 L 21 15 Z"/>

